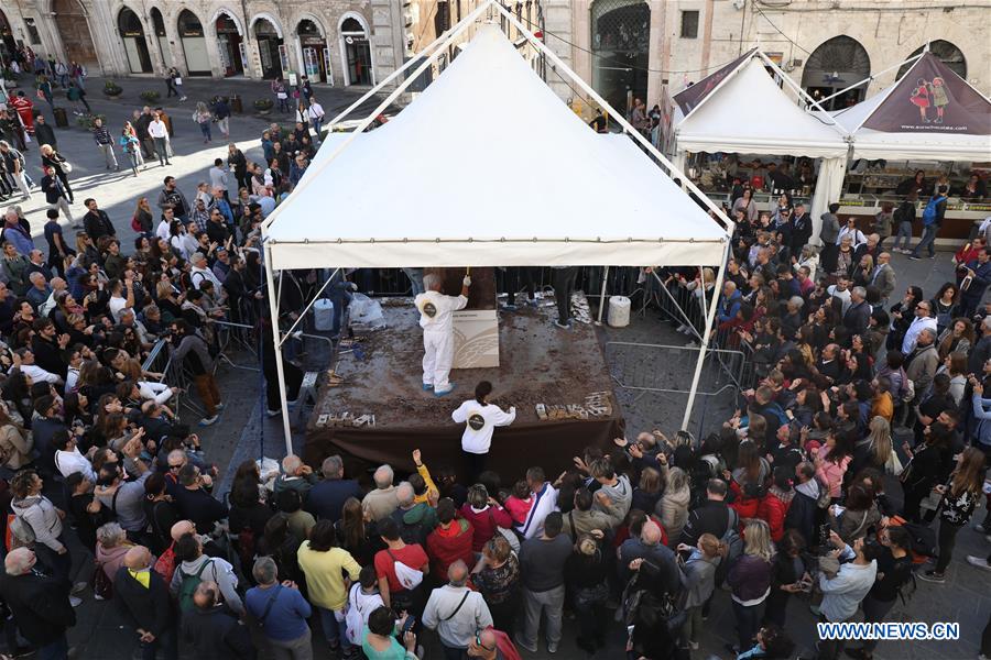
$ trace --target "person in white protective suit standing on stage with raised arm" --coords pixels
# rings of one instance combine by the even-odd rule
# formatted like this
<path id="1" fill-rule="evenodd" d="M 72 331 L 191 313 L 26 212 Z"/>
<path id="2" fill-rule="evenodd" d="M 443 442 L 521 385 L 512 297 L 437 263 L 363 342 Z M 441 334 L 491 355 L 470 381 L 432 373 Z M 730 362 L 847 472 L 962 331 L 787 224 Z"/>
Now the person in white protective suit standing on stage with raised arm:
<path id="1" fill-rule="evenodd" d="M 423 388 L 434 391 L 435 396 L 444 396 L 455 388 L 447 381 L 454 361 L 454 319 L 451 312 L 468 305 L 468 287 L 471 277 L 461 282 L 461 295 L 445 296 L 440 293 L 440 276 L 424 275 L 425 293 L 413 299 L 420 310 L 420 327 L 423 328 Z"/>

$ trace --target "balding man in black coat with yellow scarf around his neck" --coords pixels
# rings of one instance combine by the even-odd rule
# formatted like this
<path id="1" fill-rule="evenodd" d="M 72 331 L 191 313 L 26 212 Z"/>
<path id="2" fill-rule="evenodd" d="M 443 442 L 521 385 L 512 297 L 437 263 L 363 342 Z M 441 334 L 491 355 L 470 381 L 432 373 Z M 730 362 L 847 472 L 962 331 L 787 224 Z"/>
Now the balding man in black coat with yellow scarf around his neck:
<path id="1" fill-rule="evenodd" d="M 154 570 L 148 548 L 134 546 L 124 554 L 113 580 L 113 602 L 124 620 L 134 628 L 145 658 L 162 648 L 166 660 L 178 658 L 176 615 L 168 585 Z"/>

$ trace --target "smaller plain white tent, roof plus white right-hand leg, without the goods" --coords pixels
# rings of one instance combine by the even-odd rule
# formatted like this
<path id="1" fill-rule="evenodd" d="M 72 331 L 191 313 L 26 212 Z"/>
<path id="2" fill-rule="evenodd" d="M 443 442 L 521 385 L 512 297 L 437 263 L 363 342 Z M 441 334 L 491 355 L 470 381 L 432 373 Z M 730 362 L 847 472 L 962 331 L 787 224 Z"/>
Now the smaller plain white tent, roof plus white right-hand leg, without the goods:
<path id="1" fill-rule="evenodd" d="M 823 158 L 812 208 L 813 237 L 847 165 L 847 133 L 828 116 L 797 105 L 767 74 L 767 67 L 803 101 L 815 103 L 760 51 L 711 74 L 674 96 L 675 164 L 690 152 L 729 152 Z M 697 88 L 700 88 L 697 89 Z"/>

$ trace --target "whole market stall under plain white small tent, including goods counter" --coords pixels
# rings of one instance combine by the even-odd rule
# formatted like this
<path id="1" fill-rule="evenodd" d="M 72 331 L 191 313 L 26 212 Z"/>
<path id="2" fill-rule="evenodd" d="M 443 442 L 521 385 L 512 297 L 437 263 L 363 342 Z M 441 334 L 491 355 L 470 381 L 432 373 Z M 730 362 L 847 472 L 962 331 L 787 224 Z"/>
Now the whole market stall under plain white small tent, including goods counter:
<path id="1" fill-rule="evenodd" d="M 727 205 L 734 179 L 751 183 L 760 210 L 788 193 L 810 210 L 816 237 L 819 217 L 836 200 L 829 191 L 842 180 L 847 135 L 828 114 L 796 105 L 785 84 L 793 85 L 754 50 L 675 95 L 674 162 L 710 199 Z"/>

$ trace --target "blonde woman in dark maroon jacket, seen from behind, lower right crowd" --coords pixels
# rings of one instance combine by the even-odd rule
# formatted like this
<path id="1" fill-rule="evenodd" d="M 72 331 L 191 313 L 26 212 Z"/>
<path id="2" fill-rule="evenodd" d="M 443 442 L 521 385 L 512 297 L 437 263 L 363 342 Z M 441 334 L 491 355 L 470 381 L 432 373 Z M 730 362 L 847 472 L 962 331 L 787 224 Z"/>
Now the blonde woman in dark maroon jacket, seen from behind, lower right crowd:
<path id="1" fill-rule="evenodd" d="M 743 554 L 730 568 L 727 582 L 732 588 L 733 615 L 737 619 L 734 653 L 751 648 L 761 628 L 764 601 L 771 593 L 771 530 L 760 519 L 750 519 L 743 527 Z"/>

